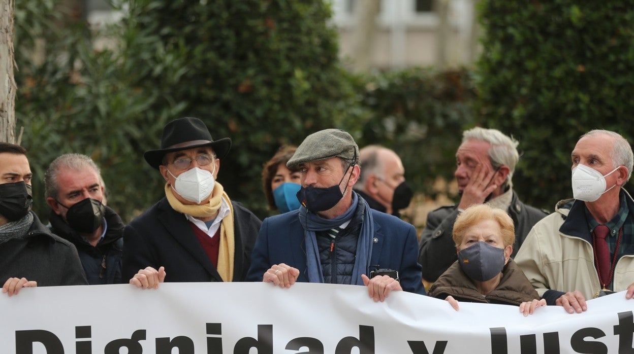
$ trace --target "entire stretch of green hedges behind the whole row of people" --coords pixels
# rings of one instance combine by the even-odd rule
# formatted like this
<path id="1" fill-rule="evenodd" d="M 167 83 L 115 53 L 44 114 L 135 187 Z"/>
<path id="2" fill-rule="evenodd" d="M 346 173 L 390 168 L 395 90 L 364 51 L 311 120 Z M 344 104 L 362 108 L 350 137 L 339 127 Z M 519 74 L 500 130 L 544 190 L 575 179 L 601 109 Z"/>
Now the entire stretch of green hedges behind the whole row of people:
<path id="1" fill-rule="evenodd" d="M 408 180 L 428 196 L 437 176 L 453 179 L 462 130 L 495 127 L 520 141 L 514 182 L 522 199 L 551 210 L 571 195 L 569 154 L 579 135 L 604 128 L 634 138 L 634 0 L 481 1 L 486 36 L 475 75 L 353 75 L 337 58 L 327 2 L 115 4 L 124 5 L 122 22 L 98 29 L 55 0 L 15 4 L 16 117 L 44 219 L 44 169 L 67 152 L 103 168 L 110 205 L 125 220 L 148 208 L 164 182 L 143 151 L 184 116 L 233 139 L 219 180 L 261 217 L 262 163 L 326 127 L 349 130 L 359 146 L 397 151 Z M 110 47 L 95 49 L 104 35 Z"/>

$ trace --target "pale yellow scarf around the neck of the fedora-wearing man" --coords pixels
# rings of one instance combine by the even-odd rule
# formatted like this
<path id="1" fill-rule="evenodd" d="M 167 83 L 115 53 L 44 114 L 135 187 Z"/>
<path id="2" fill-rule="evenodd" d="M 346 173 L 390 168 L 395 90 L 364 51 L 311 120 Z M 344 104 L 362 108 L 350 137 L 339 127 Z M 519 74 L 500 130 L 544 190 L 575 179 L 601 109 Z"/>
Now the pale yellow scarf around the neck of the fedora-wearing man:
<path id="1" fill-rule="evenodd" d="M 233 205 L 229 196 L 224 193 L 224 188 L 221 184 L 216 182 L 214 184 L 214 190 L 211 193 L 209 203 L 205 205 L 185 205 L 181 203 L 174 193 L 172 193 L 172 187 L 169 184 L 165 184 L 165 196 L 169 205 L 174 210 L 180 213 L 190 215 L 195 218 L 205 218 L 214 216 L 218 210 L 220 210 L 221 199 L 227 201 L 229 205 L 230 213 L 223 218 L 220 224 L 220 247 L 218 250 L 218 274 L 223 278 L 223 281 L 230 282 L 233 280 L 233 257 L 235 255 L 235 239 L 233 235 Z"/>

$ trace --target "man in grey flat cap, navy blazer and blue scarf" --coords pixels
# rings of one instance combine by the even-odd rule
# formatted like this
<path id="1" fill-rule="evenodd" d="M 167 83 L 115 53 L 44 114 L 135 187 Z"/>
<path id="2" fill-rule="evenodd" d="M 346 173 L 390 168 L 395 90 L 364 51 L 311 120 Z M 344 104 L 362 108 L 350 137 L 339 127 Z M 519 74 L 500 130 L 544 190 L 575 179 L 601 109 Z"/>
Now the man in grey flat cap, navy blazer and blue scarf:
<path id="1" fill-rule="evenodd" d="M 264 219 L 247 281 L 367 286 L 375 301 L 391 291 L 425 294 L 414 227 L 372 210 L 353 191 L 359 148 L 350 134 L 325 129 L 304 139 L 288 167 L 299 167 L 299 210 Z"/>

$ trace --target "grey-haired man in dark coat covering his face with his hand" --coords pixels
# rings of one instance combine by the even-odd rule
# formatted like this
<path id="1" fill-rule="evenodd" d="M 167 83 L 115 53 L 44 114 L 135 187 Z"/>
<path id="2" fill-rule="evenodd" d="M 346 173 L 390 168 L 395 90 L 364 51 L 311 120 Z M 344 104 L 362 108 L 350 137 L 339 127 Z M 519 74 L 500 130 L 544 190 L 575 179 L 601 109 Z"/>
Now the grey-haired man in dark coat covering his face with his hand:
<path id="1" fill-rule="evenodd" d="M 517 144 L 496 129 L 475 127 L 463 132 L 454 172 L 460 203 L 427 214 L 418 247 L 418 263 L 422 265 L 424 281 L 436 281 L 458 259 L 451 231 L 458 214 L 469 206 L 486 201 L 508 212 L 515 224 L 512 257 L 531 227 L 547 215 L 543 210 L 522 203 L 512 188 L 511 179 L 519 160 Z"/>

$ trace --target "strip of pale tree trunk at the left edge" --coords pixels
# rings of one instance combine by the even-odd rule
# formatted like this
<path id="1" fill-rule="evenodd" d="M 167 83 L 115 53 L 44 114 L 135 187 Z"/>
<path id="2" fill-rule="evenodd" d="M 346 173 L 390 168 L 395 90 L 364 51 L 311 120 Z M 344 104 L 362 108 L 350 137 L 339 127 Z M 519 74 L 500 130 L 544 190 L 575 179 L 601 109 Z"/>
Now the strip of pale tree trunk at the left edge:
<path id="1" fill-rule="evenodd" d="M 0 0 L 0 141 L 15 142 L 13 0 Z"/>

